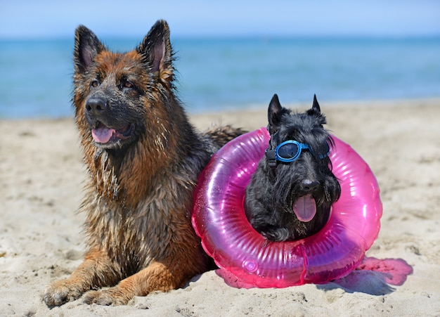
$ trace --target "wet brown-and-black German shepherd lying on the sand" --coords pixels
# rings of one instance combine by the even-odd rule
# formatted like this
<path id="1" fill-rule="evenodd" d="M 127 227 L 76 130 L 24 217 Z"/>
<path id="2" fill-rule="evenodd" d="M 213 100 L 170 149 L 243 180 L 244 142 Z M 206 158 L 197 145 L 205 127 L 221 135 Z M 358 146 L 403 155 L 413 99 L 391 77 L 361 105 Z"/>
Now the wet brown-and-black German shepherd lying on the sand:
<path id="1" fill-rule="evenodd" d="M 119 305 L 183 287 L 211 265 L 190 223 L 198 175 L 244 131 L 195 131 L 176 97 L 164 20 L 127 53 L 109 51 L 79 26 L 74 60 L 75 119 L 89 172 L 79 207 L 87 249 L 69 278 L 46 288 L 44 301 Z"/>

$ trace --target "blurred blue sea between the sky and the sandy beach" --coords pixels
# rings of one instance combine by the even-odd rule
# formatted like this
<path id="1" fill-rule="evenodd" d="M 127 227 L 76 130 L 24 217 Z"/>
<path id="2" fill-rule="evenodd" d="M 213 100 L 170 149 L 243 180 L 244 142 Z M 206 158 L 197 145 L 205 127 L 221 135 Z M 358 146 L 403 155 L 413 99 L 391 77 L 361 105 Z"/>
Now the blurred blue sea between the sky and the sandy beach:
<path id="1" fill-rule="evenodd" d="M 102 39 L 115 51 L 141 39 Z M 189 113 L 440 97 L 440 37 L 172 39 Z M 73 115 L 73 39 L 0 40 L 0 117 Z"/>

